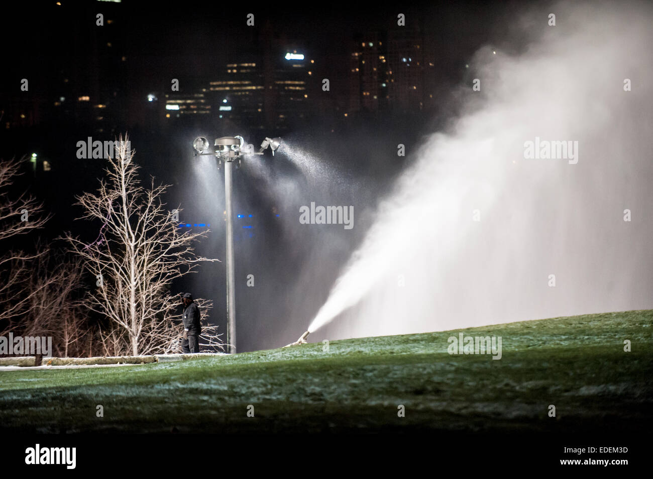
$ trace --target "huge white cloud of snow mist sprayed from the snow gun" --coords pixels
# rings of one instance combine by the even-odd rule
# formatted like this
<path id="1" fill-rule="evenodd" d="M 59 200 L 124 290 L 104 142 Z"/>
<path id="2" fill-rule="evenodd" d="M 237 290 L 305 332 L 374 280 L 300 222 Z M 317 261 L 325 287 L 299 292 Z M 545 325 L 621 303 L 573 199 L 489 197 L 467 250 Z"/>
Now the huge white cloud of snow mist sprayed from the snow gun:
<path id="1" fill-rule="evenodd" d="M 479 50 L 462 113 L 414 152 L 309 330 L 374 336 L 652 307 L 652 9 L 551 5 L 518 19 L 527 50 Z M 571 141 L 574 160 L 530 156 L 536 138 Z"/>

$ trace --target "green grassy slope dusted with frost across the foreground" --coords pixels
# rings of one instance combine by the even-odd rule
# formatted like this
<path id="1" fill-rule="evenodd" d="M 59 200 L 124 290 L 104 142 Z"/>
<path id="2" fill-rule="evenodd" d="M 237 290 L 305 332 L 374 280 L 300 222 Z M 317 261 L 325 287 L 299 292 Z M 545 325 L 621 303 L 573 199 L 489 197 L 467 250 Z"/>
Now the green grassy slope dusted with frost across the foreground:
<path id="1" fill-rule="evenodd" d="M 601 313 L 331 341 L 328 352 L 309 343 L 121 368 L 0 371 L 0 424 L 44 433 L 643 432 L 653 425 L 652 324 L 653 310 Z M 447 339 L 459 332 L 502 336 L 501 360 L 449 355 Z"/>

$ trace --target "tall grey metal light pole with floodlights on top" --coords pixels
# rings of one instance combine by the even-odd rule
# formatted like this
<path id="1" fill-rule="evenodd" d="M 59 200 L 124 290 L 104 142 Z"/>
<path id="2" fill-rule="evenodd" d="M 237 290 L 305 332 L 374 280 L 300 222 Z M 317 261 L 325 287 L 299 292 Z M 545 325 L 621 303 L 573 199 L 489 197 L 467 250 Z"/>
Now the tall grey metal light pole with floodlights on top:
<path id="1" fill-rule="evenodd" d="M 223 136 L 216 138 L 214 142 L 215 151 L 206 152 L 209 149 L 208 139 L 203 136 L 195 138 L 193 148 L 195 156 L 211 154 L 217 158 L 218 167 L 225 162 L 225 210 L 227 214 L 227 344 L 229 353 L 236 353 L 236 293 L 235 293 L 235 272 L 234 272 L 234 232 L 233 213 L 231 207 L 231 173 L 233 164 L 237 160 L 240 164 L 240 157 L 245 154 L 263 154 L 263 151 L 270 147 L 272 155 L 281 145 L 281 138 L 266 138 L 261 143 L 259 151 L 254 151 L 254 145 L 245 143 L 242 136 Z"/>

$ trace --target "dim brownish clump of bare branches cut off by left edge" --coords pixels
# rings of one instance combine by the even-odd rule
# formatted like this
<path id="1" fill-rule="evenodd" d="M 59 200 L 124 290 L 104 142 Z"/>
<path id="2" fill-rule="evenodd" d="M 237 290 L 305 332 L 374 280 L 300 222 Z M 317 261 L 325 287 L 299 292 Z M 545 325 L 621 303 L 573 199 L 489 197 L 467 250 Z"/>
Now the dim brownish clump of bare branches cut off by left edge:
<path id="1" fill-rule="evenodd" d="M 26 192 L 10 199 L 5 190 L 20 176 L 24 162 L 0 162 L 0 241 L 12 242 L 42 227 L 50 215 Z M 52 336 L 57 355 L 84 352 L 93 328 L 74 300 L 81 286 L 81 261 L 70 261 L 40 242 L 34 252 L 9 250 L 0 257 L 0 333 Z"/>

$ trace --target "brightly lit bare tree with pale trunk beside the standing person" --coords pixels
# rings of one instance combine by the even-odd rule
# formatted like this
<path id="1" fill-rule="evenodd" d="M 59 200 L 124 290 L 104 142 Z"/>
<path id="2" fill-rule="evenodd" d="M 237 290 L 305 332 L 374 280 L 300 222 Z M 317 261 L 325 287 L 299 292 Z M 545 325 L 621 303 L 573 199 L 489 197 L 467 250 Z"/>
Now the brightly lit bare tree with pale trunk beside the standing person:
<path id="1" fill-rule="evenodd" d="M 163 352 L 179 330 L 173 322 L 179 297 L 168 293 L 170 283 L 202 261 L 219 260 L 195 255 L 193 244 L 206 234 L 180 231 L 162 200 L 170 185 L 155 186 L 152 178 L 149 188 L 140 186 L 127 137 L 116 146 L 98 192 L 77 197 L 82 218 L 102 224 L 99 237 L 91 244 L 66 239 L 97 278 L 88 306 L 112 322 L 101 333 L 104 350 L 124 353 L 127 340 L 132 355 Z"/>

